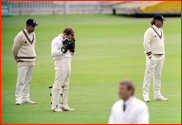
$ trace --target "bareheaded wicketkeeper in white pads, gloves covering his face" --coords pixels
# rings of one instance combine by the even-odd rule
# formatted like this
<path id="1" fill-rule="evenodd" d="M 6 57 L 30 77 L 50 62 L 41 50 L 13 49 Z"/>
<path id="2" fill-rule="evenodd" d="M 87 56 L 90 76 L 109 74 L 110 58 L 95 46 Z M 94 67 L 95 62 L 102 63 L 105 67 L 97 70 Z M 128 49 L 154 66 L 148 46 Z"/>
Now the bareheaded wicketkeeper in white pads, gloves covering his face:
<path id="1" fill-rule="evenodd" d="M 68 106 L 69 79 L 71 74 L 71 56 L 75 54 L 74 30 L 66 28 L 52 40 L 51 53 L 55 67 L 55 81 L 52 87 L 52 105 L 54 112 L 74 111 Z M 61 104 L 59 97 L 62 93 Z"/>

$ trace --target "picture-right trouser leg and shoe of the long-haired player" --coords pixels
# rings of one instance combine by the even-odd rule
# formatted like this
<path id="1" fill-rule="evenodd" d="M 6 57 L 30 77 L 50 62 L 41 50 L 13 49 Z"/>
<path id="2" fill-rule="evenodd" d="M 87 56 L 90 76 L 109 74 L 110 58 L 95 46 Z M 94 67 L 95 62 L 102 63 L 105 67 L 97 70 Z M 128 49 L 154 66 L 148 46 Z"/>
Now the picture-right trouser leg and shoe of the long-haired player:
<path id="1" fill-rule="evenodd" d="M 166 101 L 167 98 L 164 98 L 161 95 L 160 89 L 161 89 L 161 72 L 164 62 L 164 56 L 156 56 L 157 58 L 157 65 L 154 69 L 154 75 L 153 75 L 153 91 L 154 91 L 154 99 L 155 100 L 164 100 Z"/>

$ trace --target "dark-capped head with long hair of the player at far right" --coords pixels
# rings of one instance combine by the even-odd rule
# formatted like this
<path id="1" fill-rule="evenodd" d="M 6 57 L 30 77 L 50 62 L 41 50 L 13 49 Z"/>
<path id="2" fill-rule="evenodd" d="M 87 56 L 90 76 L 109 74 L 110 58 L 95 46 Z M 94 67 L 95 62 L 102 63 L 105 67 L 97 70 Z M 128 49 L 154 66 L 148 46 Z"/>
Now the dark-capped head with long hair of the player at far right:
<path id="1" fill-rule="evenodd" d="M 160 14 L 156 14 L 154 15 L 154 17 L 152 18 L 152 20 L 150 21 L 151 25 L 155 25 L 158 28 L 163 26 L 163 21 L 166 21 L 162 15 Z"/>

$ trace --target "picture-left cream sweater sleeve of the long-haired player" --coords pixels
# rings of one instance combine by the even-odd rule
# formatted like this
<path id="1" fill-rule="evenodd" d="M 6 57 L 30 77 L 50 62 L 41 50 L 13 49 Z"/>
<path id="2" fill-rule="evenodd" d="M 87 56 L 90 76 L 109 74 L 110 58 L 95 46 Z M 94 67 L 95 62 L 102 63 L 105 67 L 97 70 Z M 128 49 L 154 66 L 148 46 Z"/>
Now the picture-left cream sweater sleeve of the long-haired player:
<path id="1" fill-rule="evenodd" d="M 151 52 L 150 48 L 151 40 L 152 40 L 152 32 L 150 29 L 148 29 L 144 34 L 144 42 L 143 42 L 143 47 L 146 53 Z"/>

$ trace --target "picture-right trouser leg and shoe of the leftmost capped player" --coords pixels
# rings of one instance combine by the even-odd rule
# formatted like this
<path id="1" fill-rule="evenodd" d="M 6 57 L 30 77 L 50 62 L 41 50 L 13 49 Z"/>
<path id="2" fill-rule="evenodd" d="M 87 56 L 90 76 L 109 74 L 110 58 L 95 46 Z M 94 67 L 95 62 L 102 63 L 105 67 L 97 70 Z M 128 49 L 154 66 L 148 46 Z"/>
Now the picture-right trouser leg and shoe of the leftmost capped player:
<path id="1" fill-rule="evenodd" d="M 25 84 L 24 84 L 23 92 L 22 92 L 22 96 L 23 96 L 22 101 L 24 104 L 36 103 L 34 101 L 31 101 L 29 98 L 29 90 L 30 90 L 30 84 L 32 80 L 33 71 L 34 71 L 34 66 L 28 66 L 28 71 L 26 73 Z"/>

